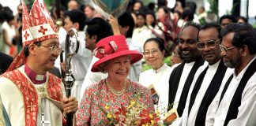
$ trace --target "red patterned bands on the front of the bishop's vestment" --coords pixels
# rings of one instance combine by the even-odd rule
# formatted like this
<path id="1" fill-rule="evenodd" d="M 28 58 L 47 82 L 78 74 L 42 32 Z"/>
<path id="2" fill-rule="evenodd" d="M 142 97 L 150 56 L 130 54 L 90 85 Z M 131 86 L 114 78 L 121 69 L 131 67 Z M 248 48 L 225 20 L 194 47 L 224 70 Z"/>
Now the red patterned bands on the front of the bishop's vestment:
<path id="1" fill-rule="evenodd" d="M 5 76 L 19 88 L 24 99 L 24 115 L 26 126 L 35 126 L 39 109 L 39 98 L 36 92 L 36 87 L 31 83 L 18 69 L 10 72 L 5 72 Z M 50 98 L 61 101 L 62 88 L 61 80 L 49 73 L 47 82 L 47 94 Z"/>

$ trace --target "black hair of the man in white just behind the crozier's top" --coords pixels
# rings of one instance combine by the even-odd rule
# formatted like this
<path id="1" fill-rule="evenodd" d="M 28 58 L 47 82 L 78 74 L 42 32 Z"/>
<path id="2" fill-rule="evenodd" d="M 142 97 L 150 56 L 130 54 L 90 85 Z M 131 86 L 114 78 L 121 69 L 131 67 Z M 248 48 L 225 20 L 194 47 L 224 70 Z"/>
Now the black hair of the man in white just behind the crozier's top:
<path id="1" fill-rule="evenodd" d="M 70 20 L 73 23 L 79 24 L 80 31 L 84 30 L 86 16 L 85 16 L 85 13 L 83 13 L 81 10 L 78 10 L 78 9 L 68 10 L 64 13 L 64 17 L 70 17 Z"/>

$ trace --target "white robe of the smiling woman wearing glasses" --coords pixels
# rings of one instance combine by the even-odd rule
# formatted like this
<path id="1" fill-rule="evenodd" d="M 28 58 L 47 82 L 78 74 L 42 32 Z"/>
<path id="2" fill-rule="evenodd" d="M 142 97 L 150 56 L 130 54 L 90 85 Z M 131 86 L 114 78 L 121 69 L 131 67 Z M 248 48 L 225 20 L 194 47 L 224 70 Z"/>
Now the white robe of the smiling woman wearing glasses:
<path id="1" fill-rule="evenodd" d="M 169 78 L 171 75 L 171 67 L 164 64 L 160 69 L 149 69 L 145 72 L 141 72 L 139 83 L 145 87 L 153 85 L 157 94 L 159 95 L 159 102 L 156 109 L 160 110 L 160 113 L 167 113 L 168 109 L 168 97 L 169 97 Z"/>

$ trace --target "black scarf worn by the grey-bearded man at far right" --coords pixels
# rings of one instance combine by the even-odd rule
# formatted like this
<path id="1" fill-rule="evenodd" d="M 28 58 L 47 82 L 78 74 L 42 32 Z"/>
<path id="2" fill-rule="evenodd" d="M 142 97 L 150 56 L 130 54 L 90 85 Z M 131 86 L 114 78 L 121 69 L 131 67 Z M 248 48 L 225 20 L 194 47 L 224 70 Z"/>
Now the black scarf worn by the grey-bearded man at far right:
<path id="1" fill-rule="evenodd" d="M 241 100 L 242 100 L 242 94 L 244 87 L 247 86 L 248 80 L 250 80 L 250 77 L 254 75 L 254 72 L 256 72 L 256 60 L 248 66 L 247 71 L 243 74 L 243 77 L 239 83 L 239 86 L 235 90 L 235 94 L 232 98 L 232 102 L 230 103 L 230 106 L 228 108 L 228 113 L 224 122 L 224 126 L 228 125 L 229 120 L 235 119 L 237 117 L 237 114 L 239 112 L 239 106 L 241 106 Z M 232 75 L 233 76 L 233 75 Z M 229 83 L 232 80 L 232 76 L 228 79 L 230 80 Z M 224 91 L 221 94 L 220 102 L 222 98 L 224 97 L 225 92 L 228 89 L 229 83 L 226 83 L 224 87 Z"/>

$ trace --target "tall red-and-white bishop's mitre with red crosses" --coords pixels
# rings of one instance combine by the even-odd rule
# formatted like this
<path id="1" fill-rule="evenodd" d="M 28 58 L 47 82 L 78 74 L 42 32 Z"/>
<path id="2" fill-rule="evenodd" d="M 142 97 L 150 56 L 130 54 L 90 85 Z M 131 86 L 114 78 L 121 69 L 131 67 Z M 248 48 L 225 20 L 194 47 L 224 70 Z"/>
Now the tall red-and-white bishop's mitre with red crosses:
<path id="1" fill-rule="evenodd" d="M 55 28 L 53 20 L 51 20 L 50 13 L 43 0 L 35 0 L 33 6 L 28 13 L 27 6 L 22 2 L 22 50 L 17 57 L 14 58 L 12 64 L 7 71 L 17 69 L 24 65 L 26 57 L 24 54 L 24 46 L 36 42 L 42 42 L 47 39 L 58 39 L 58 33 Z"/>

